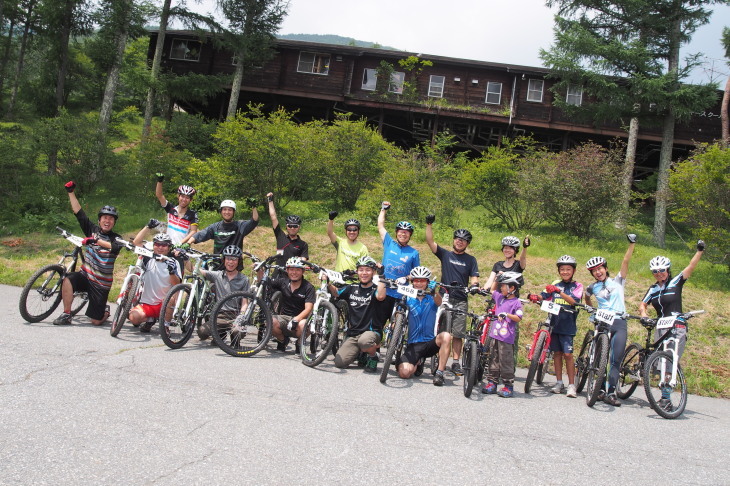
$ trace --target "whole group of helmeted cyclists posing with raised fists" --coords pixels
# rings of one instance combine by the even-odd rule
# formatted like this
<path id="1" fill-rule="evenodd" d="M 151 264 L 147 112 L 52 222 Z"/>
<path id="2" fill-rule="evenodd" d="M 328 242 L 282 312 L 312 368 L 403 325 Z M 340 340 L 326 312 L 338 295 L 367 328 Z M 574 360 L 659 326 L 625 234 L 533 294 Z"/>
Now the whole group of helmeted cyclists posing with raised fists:
<path id="1" fill-rule="evenodd" d="M 237 205 L 226 199 L 219 206 L 221 220 L 200 230 L 197 213 L 190 208 L 196 190 L 181 185 L 177 190 L 177 205 L 168 201 L 163 192 L 164 175 L 156 174 L 155 195 L 167 214 L 166 230 L 159 232 L 162 223 L 150 219 L 134 237 L 133 243 L 141 246 L 151 232 L 152 250 L 155 258 L 144 261 L 144 290 L 139 304 L 129 311 L 127 316 L 140 331 L 149 332 L 156 322 L 165 332 L 169 316 L 160 315 L 162 302 L 167 292 L 180 283 L 183 274 L 192 268 L 188 263 L 186 250 L 191 244 L 213 240 L 213 252 L 220 255 L 221 265 L 217 269 L 199 270 L 202 276 L 211 281 L 216 289 L 216 298 L 221 299 L 231 292 L 246 291 L 251 283 L 242 273 L 244 238 L 258 225 L 259 215 L 256 209 L 257 200 L 249 198 L 246 202 L 251 209 L 250 220 L 236 220 Z M 75 184 L 65 184 L 71 209 L 79 221 L 85 238 L 83 239 L 85 259 L 80 271 L 69 274 L 62 286 L 63 312 L 53 321 L 56 325 L 70 324 L 71 306 L 74 292 L 87 292 L 89 305 L 86 315 L 94 325 L 101 325 L 109 317 L 107 304 L 112 285 L 114 263 L 122 245 L 117 241 L 120 235 L 114 232 L 118 219 L 117 210 L 112 206 L 102 207 L 93 223 L 84 213 L 75 195 Z M 312 314 L 315 303 L 315 288 L 304 278 L 309 259 L 309 246 L 299 235 L 302 219 L 289 215 L 285 220 L 285 229 L 280 226 L 277 217 L 274 194 L 266 195 L 269 216 L 276 238 L 277 272 L 271 288 L 281 292 L 278 313 L 272 319 L 272 335 L 277 341 L 277 349 L 286 351 L 290 339 L 297 341 L 305 324 Z M 480 285 L 478 263 L 474 256 L 467 253 L 472 242 L 472 235 L 467 229 L 453 232 L 451 247 L 446 248 L 434 241 L 433 224 L 435 216 L 425 219 L 425 237 L 428 248 L 441 262 L 441 282 L 449 285 L 449 308 L 456 311 L 452 314 L 451 327 L 447 330 L 437 329 L 436 315 L 442 304 L 445 289 L 440 288 L 434 280 L 433 272 L 421 265 L 419 251 L 410 245 L 414 226 L 408 221 L 400 221 L 395 225 L 394 236 L 386 229 L 386 215 L 390 203 L 384 201 L 377 218 L 378 233 L 382 243 L 383 257 L 376 262 L 369 254 L 368 248 L 358 241 L 361 224 L 356 219 L 348 219 L 344 223 L 345 237 L 337 236 L 334 220 L 336 211 L 329 213 L 327 235 L 336 249 L 334 271 L 323 271 L 320 279 L 327 280 L 333 302 L 347 316 L 347 334 L 338 346 L 334 364 L 338 368 L 347 368 L 357 361 L 366 372 L 375 372 L 378 368 L 378 351 L 383 338 L 383 329 L 391 318 L 393 308 L 401 301 L 402 295 L 396 285 L 410 285 L 417 290 L 415 296 L 405 300 L 408 307 L 407 344 L 398 357 L 395 367 L 401 378 L 407 379 L 420 374 L 426 359 L 438 356 L 438 369 L 434 373 L 433 384 L 444 384 L 444 372 L 449 358 L 452 358 L 450 371 L 456 375 L 463 374 L 460 357 L 462 345 L 466 337 L 466 312 L 468 295 L 488 294 L 494 302 L 494 322 L 488 328 L 493 338 L 495 359 L 487 370 L 482 393 L 498 394 L 511 397 L 514 394 L 514 378 L 516 369 L 517 346 L 519 340 L 519 324 L 523 317 L 523 302 L 540 303 L 548 300 L 565 309 L 574 311 L 581 304 L 595 306 L 616 312 L 617 317 L 610 326 L 610 366 L 607 383 L 604 383 L 600 398 L 612 406 L 620 406 L 616 396 L 619 380 L 619 366 L 623 351 L 626 348 L 627 323 L 621 316 L 626 311 L 624 285 L 629 261 L 636 244 L 636 235 L 627 235 L 629 245 L 618 273 L 611 277 L 605 258 L 590 258 L 585 268 L 595 280 L 587 285 L 576 281 L 578 263 L 570 255 L 563 255 L 556 261 L 558 278 L 546 285 L 539 294 L 529 294 L 527 299 L 520 299 L 520 289 L 524 285 L 523 272 L 527 266 L 527 249 L 530 238 L 522 241 L 514 236 L 501 240 L 503 260 L 496 262 L 484 286 Z M 649 319 L 649 306 L 656 311 L 657 317 L 667 317 L 682 313 L 682 289 L 690 278 L 705 250 L 703 241 L 697 242 L 697 252 L 676 276 L 672 275 L 671 262 L 664 256 L 657 256 L 649 262 L 656 283 L 646 292 L 639 312 L 642 319 Z M 522 250 L 522 251 L 520 251 Z M 356 275 L 355 283 L 345 284 L 339 276 L 342 272 Z M 246 302 L 243 303 L 244 308 Z M 577 312 L 560 312 L 551 317 L 552 334 L 550 350 L 554 356 L 556 384 L 553 393 L 565 392 L 568 397 L 577 396 L 575 376 L 576 366 L 573 358 L 573 340 L 577 333 Z M 681 326 L 680 326 L 681 327 Z M 681 356 L 686 342 L 686 327 L 680 332 L 677 342 L 677 353 Z M 209 323 L 201 324 L 198 336 L 201 339 L 210 337 Z M 296 350 L 299 351 L 298 349 Z M 568 384 L 563 382 L 563 363 L 565 363 Z M 500 384 L 502 385 L 500 388 Z"/>

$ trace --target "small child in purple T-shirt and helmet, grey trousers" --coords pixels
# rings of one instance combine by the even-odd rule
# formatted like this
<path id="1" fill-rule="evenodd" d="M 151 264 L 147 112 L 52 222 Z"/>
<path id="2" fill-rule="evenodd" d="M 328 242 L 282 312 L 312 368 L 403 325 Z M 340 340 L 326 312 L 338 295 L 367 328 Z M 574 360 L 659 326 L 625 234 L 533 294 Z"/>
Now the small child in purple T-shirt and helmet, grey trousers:
<path id="1" fill-rule="evenodd" d="M 520 290 L 522 275 L 517 272 L 504 272 L 497 277 L 498 290 L 492 293 L 496 304 L 495 312 L 499 319 L 492 324 L 489 331 L 494 338 L 492 346 L 495 359 L 489 367 L 488 382 L 482 388 L 482 393 L 497 393 L 497 383 L 502 380 L 504 386 L 499 390 L 499 396 L 510 398 L 514 393 L 513 383 L 515 329 L 522 320 L 522 303 L 517 298 Z"/>

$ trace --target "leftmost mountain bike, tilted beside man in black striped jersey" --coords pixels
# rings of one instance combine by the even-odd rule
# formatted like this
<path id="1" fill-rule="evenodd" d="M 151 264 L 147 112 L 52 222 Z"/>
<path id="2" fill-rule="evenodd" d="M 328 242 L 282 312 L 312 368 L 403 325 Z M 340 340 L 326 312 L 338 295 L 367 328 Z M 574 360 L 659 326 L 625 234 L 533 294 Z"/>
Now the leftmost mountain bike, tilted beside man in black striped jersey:
<path id="1" fill-rule="evenodd" d="M 62 238 L 74 245 L 71 253 L 64 252 L 58 263 L 46 265 L 35 271 L 23 286 L 20 293 L 20 315 L 26 322 L 40 322 L 50 316 L 61 302 L 61 288 L 66 276 L 76 271 L 78 261 L 84 263 L 81 242 L 83 238 L 73 235 L 63 228 L 56 227 Z M 75 316 L 89 301 L 86 292 L 74 292 L 71 315 Z"/>

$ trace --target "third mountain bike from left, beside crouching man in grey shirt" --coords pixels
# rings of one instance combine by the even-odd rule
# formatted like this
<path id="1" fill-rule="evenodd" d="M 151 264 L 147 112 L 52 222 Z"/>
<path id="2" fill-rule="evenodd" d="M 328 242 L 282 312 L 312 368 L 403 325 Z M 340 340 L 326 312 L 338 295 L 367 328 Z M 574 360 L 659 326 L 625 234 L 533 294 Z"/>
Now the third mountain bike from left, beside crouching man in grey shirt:
<path id="1" fill-rule="evenodd" d="M 185 250 L 185 254 L 195 260 L 193 272 L 167 292 L 160 308 L 160 336 L 172 349 L 185 346 L 193 329 L 210 319 L 216 299 L 210 282 L 203 278 L 200 269 L 220 265 L 220 255 L 193 248 Z"/>

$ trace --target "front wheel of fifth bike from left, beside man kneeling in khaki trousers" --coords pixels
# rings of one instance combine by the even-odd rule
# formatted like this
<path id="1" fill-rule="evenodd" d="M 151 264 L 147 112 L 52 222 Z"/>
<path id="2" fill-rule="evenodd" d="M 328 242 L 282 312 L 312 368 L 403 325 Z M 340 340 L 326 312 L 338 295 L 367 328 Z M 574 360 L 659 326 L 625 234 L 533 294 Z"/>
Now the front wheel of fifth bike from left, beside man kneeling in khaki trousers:
<path id="1" fill-rule="evenodd" d="M 338 327 L 337 309 L 323 300 L 317 312 L 307 319 L 299 338 L 302 363 L 314 367 L 324 361 L 337 341 Z"/>

